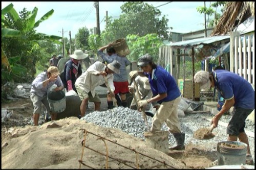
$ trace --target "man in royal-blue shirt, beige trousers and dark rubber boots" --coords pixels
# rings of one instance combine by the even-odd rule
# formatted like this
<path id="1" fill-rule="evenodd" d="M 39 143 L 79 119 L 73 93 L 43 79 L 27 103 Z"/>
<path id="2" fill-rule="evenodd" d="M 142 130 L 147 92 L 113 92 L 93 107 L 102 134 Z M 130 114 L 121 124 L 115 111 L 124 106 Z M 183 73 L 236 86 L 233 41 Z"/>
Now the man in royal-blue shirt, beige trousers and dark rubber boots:
<path id="1" fill-rule="evenodd" d="M 185 133 L 181 132 L 178 118 L 178 104 L 181 100 L 181 93 L 176 80 L 164 68 L 156 65 L 149 54 L 145 54 L 138 59 L 138 66 L 143 71 L 131 71 L 130 78 L 133 80 L 137 76 L 146 76 L 150 82 L 153 97 L 138 102 L 141 108 L 148 103 L 158 102 L 159 109 L 152 119 L 151 131 L 161 131 L 165 122 L 176 139 L 176 147 L 173 150 L 184 150 Z"/>

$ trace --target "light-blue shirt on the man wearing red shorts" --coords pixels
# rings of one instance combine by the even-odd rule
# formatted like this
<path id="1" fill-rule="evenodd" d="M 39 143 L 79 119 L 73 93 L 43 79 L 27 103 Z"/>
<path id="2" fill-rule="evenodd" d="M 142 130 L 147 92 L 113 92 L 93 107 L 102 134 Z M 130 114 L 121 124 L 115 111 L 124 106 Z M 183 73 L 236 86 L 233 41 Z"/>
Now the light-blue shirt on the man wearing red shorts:
<path id="1" fill-rule="evenodd" d="M 108 64 L 112 63 L 114 60 L 118 61 L 121 64 L 120 74 L 113 74 L 114 82 L 125 82 L 128 80 L 126 66 L 130 65 L 131 62 L 126 57 L 119 57 L 117 54 L 112 54 L 111 56 L 109 56 L 99 50 L 97 54 L 103 59 L 103 61 L 105 61 Z"/>

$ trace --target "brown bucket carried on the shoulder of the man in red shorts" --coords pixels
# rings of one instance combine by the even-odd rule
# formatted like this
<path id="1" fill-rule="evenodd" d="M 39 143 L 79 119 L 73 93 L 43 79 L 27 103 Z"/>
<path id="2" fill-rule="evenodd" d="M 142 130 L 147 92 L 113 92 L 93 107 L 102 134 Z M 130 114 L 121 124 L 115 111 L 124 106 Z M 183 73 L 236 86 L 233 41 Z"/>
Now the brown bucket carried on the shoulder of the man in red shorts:
<path id="1" fill-rule="evenodd" d="M 114 43 L 113 47 L 118 56 L 125 57 L 130 54 L 129 46 L 126 43 L 125 38 L 117 39 L 112 43 Z"/>

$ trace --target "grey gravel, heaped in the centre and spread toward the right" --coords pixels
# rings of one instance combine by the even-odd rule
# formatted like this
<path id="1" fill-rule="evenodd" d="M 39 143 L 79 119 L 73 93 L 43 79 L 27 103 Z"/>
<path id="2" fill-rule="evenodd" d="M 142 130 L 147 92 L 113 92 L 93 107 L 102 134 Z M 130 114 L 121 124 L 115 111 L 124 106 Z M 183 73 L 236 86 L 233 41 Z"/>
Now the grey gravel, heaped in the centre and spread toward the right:
<path id="1" fill-rule="evenodd" d="M 211 118 L 212 114 L 197 113 L 186 114 L 185 117 L 180 117 L 180 124 L 182 132 L 185 132 L 185 144 L 199 144 L 204 145 L 206 149 L 217 149 L 217 143 L 227 140 L 226 127 L 218 126 L 213 132 L 216 136 L 212 139 L 199 140 L 194 138 L 194 132 L 199 128 L 209 127 L 210 122 L 206 118 Z M 231 116 L 229 115 L 229 118 Z M 225 120 L 229 120 L 228 116 Z M 224 118 L 223 118 L 224 119 Z M 134 135 L 141 139 L 145 139 L 143 132 L 147 131 L 146 124 L 142 117 L 142 114 L 137 110 L 131 110 L 129 108 L 118 107 L 107 111 L 94 111 L 82 117 L 80 120 L 86 120 L 92 122 L 98 126 L 110 127 L 119 129 L 127 134 Z M 152 125 L 152 117 L 147 116 L 148 125 Z M 254 127 L 254 124 L 253 124 Z M 167 131 L 168 128 L 165 124 L 162 125 L 162 131 Z M 247 129 L 251 131 L 251 127 Z M 254 155 L 254 138 L 248 136 L 252 155 Z M 176 144 L 175 138 L 172 134 L 169 134 L 169 144 Z M 253 156 L 254 157 L 254 156 Z"/>

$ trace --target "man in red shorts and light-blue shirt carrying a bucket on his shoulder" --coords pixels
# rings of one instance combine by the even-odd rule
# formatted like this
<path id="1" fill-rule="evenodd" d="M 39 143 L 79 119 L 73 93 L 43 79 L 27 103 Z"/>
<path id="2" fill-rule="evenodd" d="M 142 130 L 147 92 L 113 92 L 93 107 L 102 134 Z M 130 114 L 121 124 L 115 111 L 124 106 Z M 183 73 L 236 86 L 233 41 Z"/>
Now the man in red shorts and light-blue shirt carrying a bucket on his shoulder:
<path id="1" fill-rule="evenodd" d="M 103 53 L 103 51 L 106 49 L 106 52 L 108 54 Z M 113 47 L 113 44 L 110 43 L 108 45 L 102 46 L 98 50 L 98 55 L 105 61 L 106 63 L 112 63 L 114 60 L 118 61 L 121 64 L 120 67 L 120 74 L 114 73 L 114 86 L 115 86 L 115 97 L 117 101 L 120 101 L 118 94 L 120 94 L 121 97 L 121 104 L 123 107 L 127 107 L 126 103 L 126 93 L 129 92 L 129 83 L 128 83 L 128 75 L 126 72 L 126 66 L 130 65 L 131 62 L 126 58 L 126 57 L 120 57 L 116 54 L 116 51 Z M 108 108 L 112 109 L 113 108 L 113 101 L 112 99 L 108 96 Z"/>

